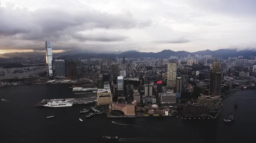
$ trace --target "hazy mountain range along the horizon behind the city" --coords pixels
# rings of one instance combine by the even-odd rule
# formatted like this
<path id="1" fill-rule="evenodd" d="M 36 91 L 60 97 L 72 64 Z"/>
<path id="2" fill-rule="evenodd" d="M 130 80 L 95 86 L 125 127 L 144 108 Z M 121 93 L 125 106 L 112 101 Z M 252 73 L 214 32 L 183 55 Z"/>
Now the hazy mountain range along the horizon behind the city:
<path id="1" fill-rule="evenodd" d="M 153 58 L 169 58 L 170 56 L 177 56 L 177 57 L 187 57 L 189 54 L 191 56 L 198 55 L 212 55 L 216 57 L 228 58 L 228 57 L 237 57 L 239 55 L 243 55 L 244 58 L 248 58 L 250 55 L 256 56 L 256 50 L 241 50 L 238 51 L 237 49 L 219 49 L 216 51 L 211 50 L 204 50 L 204 51 L 196 51 L 196 52 L 188 52 L 188 51 L 172 51 L 172 50 L 163 50 L 157 53 L 154 52 L 140 52 L 140 51 L 115 51 L 111 52 L 104 52 L 103 53 L 91 53 L 89 51 L 84 51 L 81 49 L 74 49 L 69 51 L 64 51 L 62 53 L 53 53 L 53 56 L 65 56 L 69 57 L 86 57 L 86 58 L 114 58 L 114 57 L 153 57 Z M 3 58 L 12 58 L 12 57 L 22 57 L 22 58 L 33 58 L 33 57 L 43 57 L 45 56 L 45 51 L 31 51 L 31 52 L 15 52 L 15 53 L 5 53 L 0 54 L 0 57 Z"/>

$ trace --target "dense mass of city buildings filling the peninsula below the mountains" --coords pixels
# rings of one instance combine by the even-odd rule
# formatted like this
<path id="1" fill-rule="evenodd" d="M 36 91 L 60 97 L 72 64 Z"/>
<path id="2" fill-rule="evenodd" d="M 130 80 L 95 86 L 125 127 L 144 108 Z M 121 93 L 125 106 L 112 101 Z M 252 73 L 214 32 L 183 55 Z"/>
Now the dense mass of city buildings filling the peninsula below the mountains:
<path id="1" fill-rule="evenodd" d="M 167 109 L 161 106 L 177 105 L 181 99 L 187 99 L 184 114 L 207 114 L 220 108 L 221 96 L 240 84 L 238 78 L 256 81 L 255 57 L 250 60 L 243 56 L 217 59 L 212 55 L 171 56 L 168 59 L 84 58 L 56 59 L 52 64 L 49 41 L 46 41 L 46 49 L 49 76 L 78 77 L 84 66 L 90 67 L 98 73 L 98 105 L 111 105 L 112 110 L 127 109 L 123 112 L 129 115 L 134 114 L 131 109 L 137 111 L 140 105 L 148 106 L 140 108 L 147 114 L 165 114 Z M 189 101 L 191 98 L 194 100 Z M 155 104 L 158 106 L 151 106 Z"/>

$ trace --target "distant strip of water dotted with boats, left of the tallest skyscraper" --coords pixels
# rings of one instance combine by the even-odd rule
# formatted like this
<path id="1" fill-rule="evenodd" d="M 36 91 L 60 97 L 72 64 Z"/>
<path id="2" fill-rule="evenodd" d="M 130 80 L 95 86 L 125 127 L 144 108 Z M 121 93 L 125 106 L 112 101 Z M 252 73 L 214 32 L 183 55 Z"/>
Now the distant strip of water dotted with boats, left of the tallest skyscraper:
<path id="1" fill-rule="evenodd" d="M 45 66 L 30 66 L 30 67 L 24 67 L 24 68 L 43 68 Z M 12 72 L 16 69 L 23 69 L 23 68 L 11 68 L 9 69 L 11 72 L 9 71 L 6 71 L 6 69 L 3 69 L 3 68 L 0 68 L 0 72 L 1 71 L 4 71 L 4 75 L 0 75 L 0 80 L 2 79 L 10 79 L 10 78 L 14 78 L 14 77 L 29 77 L 29 74 L 36 74 L 36 73 L 39 73 L 39 72 L 44 72 L 46 71 L 46 68 L 44 69 L 36 69 L 36 70 L 32 70 L 32 71 L 28 71 L 28 72 L 23 72 L 23 73 L 16 73 L 16 74 L 13 74 Z"/>

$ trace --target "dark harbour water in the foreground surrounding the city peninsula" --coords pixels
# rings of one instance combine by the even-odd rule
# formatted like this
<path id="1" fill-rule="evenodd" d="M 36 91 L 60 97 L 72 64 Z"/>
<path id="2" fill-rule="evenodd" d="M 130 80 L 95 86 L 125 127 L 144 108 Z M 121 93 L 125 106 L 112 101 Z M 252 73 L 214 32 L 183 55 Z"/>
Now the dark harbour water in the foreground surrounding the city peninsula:
<path id="1" fill-rule="evenodd" d="M 98 143 L 102 135 L 137 143 L 255 143 L 256 90 L 227 97 L 217 120 L 181 120 L 179 117 L 109 119 L 105 114 L 86 119 L 79 111 L 88 105 L 64 108 L 33 107 L 42 99 L 82 97 L 69 85 L 12 86 L 0 89 L 0 143 Z M 237 101 L 239 108 L 234 109 Z M 221 118 L 233 113 L 235 122 Z M 54 115 L 52 119 L 47 116 Z M 84 120 L 83 123 L 79 118 Z M 113 124 L 111 121 L 120 124 Z"/>

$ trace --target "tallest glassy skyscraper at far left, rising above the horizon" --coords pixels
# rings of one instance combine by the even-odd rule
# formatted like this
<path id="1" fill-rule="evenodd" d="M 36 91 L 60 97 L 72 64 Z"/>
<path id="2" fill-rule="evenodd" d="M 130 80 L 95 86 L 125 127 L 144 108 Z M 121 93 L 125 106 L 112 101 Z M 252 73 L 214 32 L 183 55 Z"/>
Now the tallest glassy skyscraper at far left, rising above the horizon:
<path id="1" fill-rule="evenodd" d="M 45 49 L 46 49 L 46 66 L 47 66 L 47 74 L 52 77 L 52 44 L 51 41 L 45 41 Z"/>

